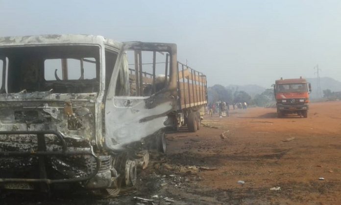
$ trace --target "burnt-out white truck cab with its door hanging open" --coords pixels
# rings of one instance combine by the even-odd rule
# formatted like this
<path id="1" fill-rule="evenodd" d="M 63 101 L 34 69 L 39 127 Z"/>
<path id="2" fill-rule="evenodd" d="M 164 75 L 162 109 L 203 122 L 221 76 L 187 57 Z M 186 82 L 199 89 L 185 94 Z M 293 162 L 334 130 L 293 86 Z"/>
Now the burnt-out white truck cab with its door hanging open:
<path id="1" fill-rule="evenodd" d="M 0 38 L 0 189 L 133 186 L 174 126 L 176 59 L 175 44 Z"/>

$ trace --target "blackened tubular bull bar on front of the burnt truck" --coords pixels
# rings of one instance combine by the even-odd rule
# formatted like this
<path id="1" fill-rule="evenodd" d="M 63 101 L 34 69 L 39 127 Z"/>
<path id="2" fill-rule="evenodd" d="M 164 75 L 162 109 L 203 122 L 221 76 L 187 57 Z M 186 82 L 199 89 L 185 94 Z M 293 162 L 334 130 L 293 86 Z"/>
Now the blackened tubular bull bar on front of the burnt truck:
<path id="1" fill-rule="evenodd" d="M 0 131 L 0 135 L 21 135 L 21 134 L 31 134 L 37 135 L 37 143 L 38 143 L 38 151 L 37 152 L 20 152 L 20 151 L 8 151 L 8 152 L 0 152 L 0 156 L 38 156 L 39 161 L 39 175 L 40 179 L 20 179 L 20 178 L 0 178 L 0 183 L 6 182 L 36 182 L 36 183 L 70 183 L 70 182 L 80 182 L 92 179 L 95 177 L 100 168 L 100 159 L 90 151 L 67 151 L 67 145 L 64 140 L 63 135 L 60 132 L 56 131 Z M 45 142 L 45 134 L 53 134 L 57 136 L 57 138 L 62 143 L 62 152 L 59 151 L 46 151 L 46 142 Z M 70 155 L 91 155 L 96 160 L 96 168 L 93 172 L 91 172 L 86 177 L 79 177 L 73 179 L 47 179 L 46 165 L 45 165 L 45 156 L 70 156 Z"/>

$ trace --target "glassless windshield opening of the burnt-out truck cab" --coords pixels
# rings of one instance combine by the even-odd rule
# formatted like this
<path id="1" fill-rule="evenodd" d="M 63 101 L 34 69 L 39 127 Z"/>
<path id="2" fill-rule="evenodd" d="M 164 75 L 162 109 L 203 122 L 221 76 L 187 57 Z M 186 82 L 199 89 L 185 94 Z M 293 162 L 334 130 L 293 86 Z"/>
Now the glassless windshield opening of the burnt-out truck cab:
<path id="1" fill-rule="evenodd" d="M 8 93 L 51 89 L 54 93 L 99 92 L 100 51 L 95 44 L 0 47 L 0 56 L 8 58 Z M 53 60 L 47 68 L 46 62 Z"/>

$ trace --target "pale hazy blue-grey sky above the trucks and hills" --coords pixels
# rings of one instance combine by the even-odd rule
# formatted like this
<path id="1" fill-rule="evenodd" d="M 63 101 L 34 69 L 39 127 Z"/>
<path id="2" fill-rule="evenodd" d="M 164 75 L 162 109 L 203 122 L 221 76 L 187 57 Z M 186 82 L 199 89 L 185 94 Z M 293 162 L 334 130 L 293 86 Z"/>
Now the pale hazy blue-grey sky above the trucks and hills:
<path id="1" fill-rule="evenodd" d="M 0 0 L 0 36 L 97 34 L 170 42 L 209 85 L 341 80 L 340 0 Z"/>

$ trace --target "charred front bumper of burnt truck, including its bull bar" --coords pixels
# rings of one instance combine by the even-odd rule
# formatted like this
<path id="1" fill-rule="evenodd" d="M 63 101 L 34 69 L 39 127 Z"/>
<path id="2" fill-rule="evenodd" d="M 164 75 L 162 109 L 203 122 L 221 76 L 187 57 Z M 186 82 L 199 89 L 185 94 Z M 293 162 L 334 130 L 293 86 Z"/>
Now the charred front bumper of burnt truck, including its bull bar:
<path id="1" fill-rule="evenodd" d="M 33 187 L 40 187 L 42 191 L 47 191 L 49 184 L 53 183 L 88 182 L 86 183 L 87 188 L 110 186 L 110 170 L 109 166 L 105 166 L 109 161 L 107 157 L 98 157 L 94 154 L 91 147 L 84 145 L 81 146 L 83 149 L 69 147 L 70 143 L 67 143 L 62 134 L 56 131 L 0 131 L 0 136 L 7 136 L 7 138 L 18 136 L 18 139 L 23 138 L 23 141 L 24 136 L 32 135 L 36 136 L 34 138 L 36 139 L 36 145 L 32 145 L 37 148 L 35 151 L 24 149 L 25 147 L 19 149 L 15 142 L 1 141 L 0 162 L 4 170 L 0 173 L 0 188 L 6 188 L 6 183 L 19 184 L 21 182 L 32 183 Z M 46 138 L 47 135 L 54 135 L 61 149 L 48 149 L 50 144 Z M 28 144 L 26 143 L 25 145 Z M 6 160 L 11 163 L 4 163 Z M 7 169 L 9 171 L 12 170 L 12 173 L 6 172 L 5 164 L 8 166 Z M 82 167 L 82 169 L 77 170 L 76 167 Z M 18 176 L 14 174 L 16 170 L 25 171 L 29 168 L 32 168 L 33 176 Z M 61 175 L 65 174 L 64 177 L 52 177 L 51 179 L 48 170 L 53 168 Z M 70 174 L 73 171 L 76 171 L 75 173 L 78 172 L 78 175 Z M 101 183 L 98 183 L 98 181 Z M 94 185 L 95 182 L 96 186 Z M 40 185 L 36 186 L 34 184 Z"/>

